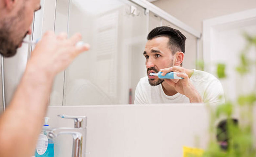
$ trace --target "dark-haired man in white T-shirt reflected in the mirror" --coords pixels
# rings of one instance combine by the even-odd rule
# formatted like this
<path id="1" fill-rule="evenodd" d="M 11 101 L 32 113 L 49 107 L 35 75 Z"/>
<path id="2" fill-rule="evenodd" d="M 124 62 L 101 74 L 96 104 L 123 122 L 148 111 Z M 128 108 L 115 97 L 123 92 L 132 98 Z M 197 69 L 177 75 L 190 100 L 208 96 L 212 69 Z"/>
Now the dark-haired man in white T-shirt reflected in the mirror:
<path id="1" fill-rule="evenodd" d="M 213 75 L 182 67 L 186 37 L 167 26 L 154 28 L 147 36 L 143 55 L 147 76 L 141 78 L 135 91 L 135 104 L 224 102 L 223 87 Z M 178 72 L 184 79 L 159 79 L 150 73 Z"/>

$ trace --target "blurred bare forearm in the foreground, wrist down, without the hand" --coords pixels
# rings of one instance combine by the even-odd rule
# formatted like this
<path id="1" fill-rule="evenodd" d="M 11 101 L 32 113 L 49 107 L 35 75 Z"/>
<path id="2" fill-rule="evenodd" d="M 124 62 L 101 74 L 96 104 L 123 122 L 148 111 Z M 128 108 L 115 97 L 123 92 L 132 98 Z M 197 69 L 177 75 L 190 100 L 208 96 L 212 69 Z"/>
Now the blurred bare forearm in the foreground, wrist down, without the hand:
<path id="1" fill-rule="evenodd" d="M 0 118 L 0 156 L 30 156 L 46 114 L 53 77 L 28 64 Z M 11 123 L 10 123 L 11 122 Z M 18 149 L 17 149 L 18 148 Z"/>

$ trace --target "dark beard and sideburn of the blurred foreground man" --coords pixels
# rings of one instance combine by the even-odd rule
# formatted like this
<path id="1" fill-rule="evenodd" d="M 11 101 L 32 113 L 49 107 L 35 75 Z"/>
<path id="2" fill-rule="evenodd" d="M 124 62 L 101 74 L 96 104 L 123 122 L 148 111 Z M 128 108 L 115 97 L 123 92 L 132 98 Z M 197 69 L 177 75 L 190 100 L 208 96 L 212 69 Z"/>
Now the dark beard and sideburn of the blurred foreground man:
<path id="1" fill-rule="evenodd" d="M 0 22 L 0 54 L 4 57 L 14 56 L 17 52 L 19 44 L 21 44 L 22 40 L 28 33 L 26 32 L 25 35 L 17 34 L 20 31 L 20 29 L 17 28 L 17 24 L 20 24 L 24 18 L 24 9 L 25 5 L 21 7 L 17 15 L 4 18 Z M 15 43 L 15 39 L 18 39 L 17 43 Z"/>

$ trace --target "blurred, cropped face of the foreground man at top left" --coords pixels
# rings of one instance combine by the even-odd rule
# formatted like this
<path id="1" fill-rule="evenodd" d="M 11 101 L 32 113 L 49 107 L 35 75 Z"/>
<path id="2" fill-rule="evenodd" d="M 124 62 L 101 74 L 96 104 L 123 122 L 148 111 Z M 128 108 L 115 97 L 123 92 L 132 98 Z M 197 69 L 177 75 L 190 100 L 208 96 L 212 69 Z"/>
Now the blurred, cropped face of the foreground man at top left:
<path id="1" fill-rule="evenodd" d="M 23 39 L 31 34 L 33 13 L 40 9 L 40 0 L 15 0 L 13 7 L 0 18 L 0 53 L 4 57 L 16 54 Z"/>

